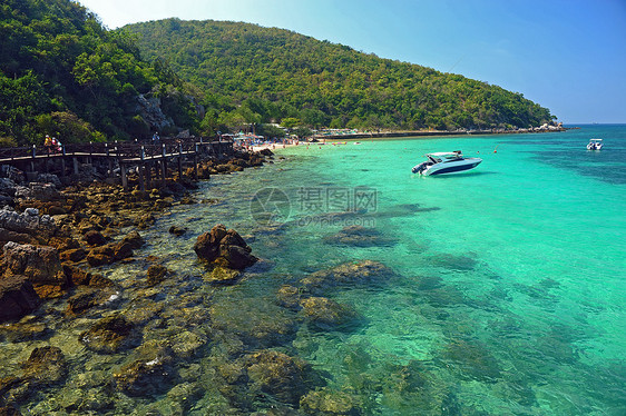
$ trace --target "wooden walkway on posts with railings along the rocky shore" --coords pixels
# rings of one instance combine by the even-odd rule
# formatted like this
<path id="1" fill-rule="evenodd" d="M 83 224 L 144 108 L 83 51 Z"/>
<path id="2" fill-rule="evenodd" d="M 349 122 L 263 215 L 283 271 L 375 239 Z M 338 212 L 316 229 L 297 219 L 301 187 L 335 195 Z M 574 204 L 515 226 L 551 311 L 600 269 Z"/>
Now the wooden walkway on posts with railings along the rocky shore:
<path id="1" fill-rule="evenodd" d="M 232 141 L 162 138 L 144 142 L 70 143 L 60 149 L 46 146 L 0 148 L 0 165 L 26 171 L 28 179 L 39 172 L 50 171 L 58 171 L 61 177 L 79 175 L 81 166 L 105 164 L 109 177 L 121 178 L 124 189 L 128 189 L 128 174 L 133 170 L 138 176 L 139 189 L 145 190 L 146 184 L 151 180 L 153 169 L 156 177 L 165 181 L 169 162 L 176 162 L 179 178 L 183 177 L 183 167 L 192 165 L 197 179 L 200 160 L 232 156 L 233 151 Z"/>

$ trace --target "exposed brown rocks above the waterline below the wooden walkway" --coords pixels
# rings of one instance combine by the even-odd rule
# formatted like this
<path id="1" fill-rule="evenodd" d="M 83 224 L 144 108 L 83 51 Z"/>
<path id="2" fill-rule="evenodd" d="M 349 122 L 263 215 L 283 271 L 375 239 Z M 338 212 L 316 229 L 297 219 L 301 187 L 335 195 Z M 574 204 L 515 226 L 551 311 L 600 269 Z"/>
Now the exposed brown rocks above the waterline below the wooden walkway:
<path id="1" fill-rule="evenodd" d="M 198 177 L 208 179 L 211 175 L 258 167 L 268 161 L 267 157 L 272 158 L 271 151 L 236 152 L 227 160 L 207 160 L 198 166 Z M 197 204 L 189 195 L 197 187 L 192 170 L 183 178 L 168 178 L 165 186 L 149 192 L 124 191 L 120 185 L 91 178 L 62 186 L 55 175 L 39 175 L 37 181 L 28 182 L 25 172 L 9 166 L 3 166 L 1 172 L 0 341 L 16 345 L 49 339 L 53 326 L 58 326 L 50 325 L 52 320 L 72 325 L 90 310 L 115 304 L 119 285 L 99 273 L 102 266 L 143 263 L 147 268 L 145 285 L 162 283 L 169 270 L 156 258 L 135 256 L 145 244 L 140 232 L 167 208 Z M 169 231 L 174 237 L 185 229 Z M 226 257 L 221 258 L 234 263 L 226 260 L 218 268 L 237 269 L 254 263 L 238 234 L 225 234 L 226 242 L 233 244 L 224 246 Z M 241 242 L 248 258 L 239 252 L 236 245 Z M 237 263 L 242 259 L 244 263 Z M 63 307 L 60 316 L 59 305 Z M 96 315 L 102 315 L 101 310 Z M 136 329 L 136 323 L 124 315 L 108 316 L 82 333 L 80 341 L 89 350 L 113 354 L 137 347 Z M 62 383 L 68 359 L 57 346 L 35 348 L 21 370 L 0 377 L 0 414 L 20 414 L 17 408 L 39 389 Z M 165 364 L 135 363 L 125 367 L 115 375 L 117 386 L 130 395 L 141 394 L 138 386 L 146 383 L 141 378 L 150 378 L 155 368 Z"/>

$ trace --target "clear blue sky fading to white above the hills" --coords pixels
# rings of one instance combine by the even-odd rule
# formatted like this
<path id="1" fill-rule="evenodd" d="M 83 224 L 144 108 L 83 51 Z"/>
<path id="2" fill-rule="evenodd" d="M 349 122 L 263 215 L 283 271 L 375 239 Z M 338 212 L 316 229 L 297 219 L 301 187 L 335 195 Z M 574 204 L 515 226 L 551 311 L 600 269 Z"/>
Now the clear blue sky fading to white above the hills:
<path id="1" fill-rule="evenodd" d="M 277 27 L 487 81 L 565 123 L 626 122 L 626 0 L 80 0 L 115 29 L 177 17 Z"/>

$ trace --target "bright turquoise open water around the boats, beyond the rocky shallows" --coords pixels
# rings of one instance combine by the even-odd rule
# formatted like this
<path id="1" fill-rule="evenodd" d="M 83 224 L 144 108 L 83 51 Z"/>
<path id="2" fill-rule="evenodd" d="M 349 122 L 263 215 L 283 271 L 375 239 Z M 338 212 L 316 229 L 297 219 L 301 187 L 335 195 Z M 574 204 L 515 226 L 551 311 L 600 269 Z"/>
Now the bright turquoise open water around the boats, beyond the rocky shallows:
<path id="1" fill-rule="evenodd" d="M 604 138 L 605 149 L 587 151 L 590 137 Z M 454 149 L 479 153 L 482 165 L 458 176 L 410 174 L 419 155 Z M 311 146 L 283 155 L 293 159 L 270 168 L 277 171 L 263 185 L 283 189 L 290 218 L 301 220 L 282 236 L 288 242 L 280 256 L 271 255 L 276 270 L 297 275 L 374 259 L 401 276 L 376 290 L 333 295 L 366 318 L 354 331 L 302 331 L 294 341 L 333 375 L 331 385 L 369 396 L 381 414 L 420 406 L 433 414 L 626 412 L 624 126 Z M 375 189 L 374 212 L 355 222 L 397 242 L 323 244 L 344 224 L 303 221 L 311 214 L 294 186 Z M 412 360 L 430 377 L 430 404 L 419 389 L 399 392 L 389 380 L 385 387 L 389 367 Z"/>

